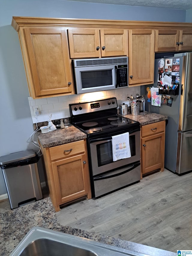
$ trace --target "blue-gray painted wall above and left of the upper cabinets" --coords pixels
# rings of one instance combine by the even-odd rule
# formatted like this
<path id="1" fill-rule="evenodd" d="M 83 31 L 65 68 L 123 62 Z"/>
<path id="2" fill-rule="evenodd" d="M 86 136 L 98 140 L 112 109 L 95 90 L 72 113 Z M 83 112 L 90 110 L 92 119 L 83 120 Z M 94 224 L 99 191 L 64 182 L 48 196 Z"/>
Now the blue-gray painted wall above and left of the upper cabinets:
<path id="1" fill-rule="evenodd" d="M 27 142 L 33 125 L 19 39 L 11 26 L 12 16 L 185 22 L 186 11 L 64 0 L 1 0 L 0 156 L 34 148 Z M 0 171 L 0 200 L 6 193 Z"/>

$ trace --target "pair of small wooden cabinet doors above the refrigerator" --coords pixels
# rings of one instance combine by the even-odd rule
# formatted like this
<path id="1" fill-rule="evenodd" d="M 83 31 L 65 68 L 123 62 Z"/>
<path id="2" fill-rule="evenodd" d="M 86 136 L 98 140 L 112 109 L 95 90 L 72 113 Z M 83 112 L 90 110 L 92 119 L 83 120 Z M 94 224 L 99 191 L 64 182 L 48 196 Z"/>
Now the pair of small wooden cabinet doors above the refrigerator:
<path id="1" fill-rule="evenodd" d="M 192 30 L 160 29 L 155 31 L 155 52 L 192 50 Z"/>

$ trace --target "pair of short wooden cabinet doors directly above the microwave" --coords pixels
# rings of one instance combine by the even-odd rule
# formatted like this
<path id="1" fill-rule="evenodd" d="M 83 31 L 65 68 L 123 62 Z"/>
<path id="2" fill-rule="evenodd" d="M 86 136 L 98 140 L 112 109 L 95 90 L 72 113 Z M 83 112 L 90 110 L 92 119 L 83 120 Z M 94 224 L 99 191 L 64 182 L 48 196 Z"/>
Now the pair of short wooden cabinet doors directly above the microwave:
<path id="1" fill-rule="evenodd" d="M 68 29 L 70 58 L 128 56 L 125 29 Z"/>

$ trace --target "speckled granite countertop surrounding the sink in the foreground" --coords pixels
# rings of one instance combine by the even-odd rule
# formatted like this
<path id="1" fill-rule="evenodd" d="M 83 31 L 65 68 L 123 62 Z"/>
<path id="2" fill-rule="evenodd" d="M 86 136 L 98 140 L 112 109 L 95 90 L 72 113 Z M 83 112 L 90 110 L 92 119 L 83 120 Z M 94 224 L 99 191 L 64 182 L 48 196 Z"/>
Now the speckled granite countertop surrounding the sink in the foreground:
<path id="1" fill-rule="evenodd" d="M 0 255 L 9 255 L 26 233 L 28 233 L 32 227 L 37 226 L 81 236 L 132 251 L 143 252 L 147 255 L 176 256 L 176 253 L 170 251 L 164 251 L 147 245 L 140 245 L 73 227 L 62 226 L 58 223 L 49 197 L 0 214 Z"/>

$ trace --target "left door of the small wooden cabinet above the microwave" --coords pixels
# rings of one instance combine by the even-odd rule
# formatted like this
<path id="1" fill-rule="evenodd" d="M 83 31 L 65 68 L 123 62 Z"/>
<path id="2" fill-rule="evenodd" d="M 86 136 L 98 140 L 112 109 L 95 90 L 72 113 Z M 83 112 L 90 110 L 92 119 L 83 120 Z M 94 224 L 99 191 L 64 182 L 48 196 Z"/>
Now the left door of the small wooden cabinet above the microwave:
<path id="1" fill-rule="evenodd" d="M 99 29 L 68 29 L 70 58 L 101 57 Z"/>

